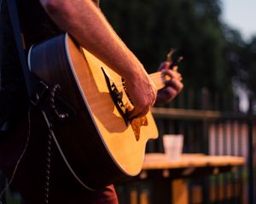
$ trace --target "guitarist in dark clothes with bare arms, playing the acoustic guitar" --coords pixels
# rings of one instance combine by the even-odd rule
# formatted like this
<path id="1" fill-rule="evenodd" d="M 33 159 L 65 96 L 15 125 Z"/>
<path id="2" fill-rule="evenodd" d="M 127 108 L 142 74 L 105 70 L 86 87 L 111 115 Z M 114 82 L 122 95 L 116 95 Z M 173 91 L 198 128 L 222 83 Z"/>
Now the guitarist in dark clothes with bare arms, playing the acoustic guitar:
<path id="1" fill-rule="evenodd" d="M 84 189 L 69 173 L 55 145 L 49 178 L 45 176 L 48 128 L 40 111 L 28 111 L 30 105 L 6 1 L 0 0 L 0 168 L 28 204 L 118 203 L 113 185 L 96 191 Z M 26 48 L 68 32 L 125 78 L 135 106 L 131 118 L 144 116 L 155 101 L 166 103 L 182 90 L 181 75 L 168 70 L 170 63 L 165 62 L 160 70 L 172 79 L 157 95 L 143 65 L 113 31 L 96 0 L 19 0 L 17 3 Z"/>

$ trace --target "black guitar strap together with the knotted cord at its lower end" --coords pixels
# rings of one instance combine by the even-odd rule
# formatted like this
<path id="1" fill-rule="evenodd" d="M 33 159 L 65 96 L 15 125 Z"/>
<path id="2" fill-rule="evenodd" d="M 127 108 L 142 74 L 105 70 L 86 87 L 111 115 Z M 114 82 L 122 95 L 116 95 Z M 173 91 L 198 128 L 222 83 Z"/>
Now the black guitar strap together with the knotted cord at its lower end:
<path id="1" fill-rule="evenodd" d="M 15 42 L 20 56 L 20 64 L 25 78 L 26 90 L 30 102 L 32 103 L 32 105 L 38 106 L 41 110 L 44 110 L 47 113 L 47 116 L 49 116 L 49 118 L 54 118 L 55 120 L 61 122 L 66 121 L 69 116 L 75 114 L 75 111 L 73 110 L 73 107 L 71 105 L 69 105 L 65 100 L 61 99 L 60 96 L 56 95 L 57 91 L 59 90 L 57 86 L 50 88 L 40 79 L 34 77 L 32 75 L 32 72 L 29 71 L 28 64 L 26 61 L 25 50 L 23 49 L 22 46 L 22 38 L 16 0 L 6 1 L 8 3 L 9 16 L 15 34 Z M 55 106 L 55 101 L 58 102 L 57 104 L 61 104 L 66 111 L 62 111 L 63 113 L 58 111 Z"/>

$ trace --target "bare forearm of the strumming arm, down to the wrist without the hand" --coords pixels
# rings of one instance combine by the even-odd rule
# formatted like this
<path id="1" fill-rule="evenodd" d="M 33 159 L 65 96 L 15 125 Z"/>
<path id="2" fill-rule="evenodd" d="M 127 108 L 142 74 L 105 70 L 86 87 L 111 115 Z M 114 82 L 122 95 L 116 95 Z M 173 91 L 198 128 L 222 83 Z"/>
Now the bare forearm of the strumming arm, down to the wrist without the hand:
<path id="1" fill-rule="evenodd" d="M 63 31 L 123 77 L 143 72 L 143 65 L 125 46 L 90 0 L 40 0 Z"/>

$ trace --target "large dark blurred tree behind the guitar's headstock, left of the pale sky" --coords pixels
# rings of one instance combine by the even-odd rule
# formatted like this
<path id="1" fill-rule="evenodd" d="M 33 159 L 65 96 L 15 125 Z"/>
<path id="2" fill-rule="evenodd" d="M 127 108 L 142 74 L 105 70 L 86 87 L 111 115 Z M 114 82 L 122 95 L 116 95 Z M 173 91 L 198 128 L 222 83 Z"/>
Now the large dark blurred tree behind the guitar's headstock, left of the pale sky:
<path id="1" fill-rule="evenodd" d="M 149 72 L 177 48 L 185 87 L 231 91 L 218 0 L 104 0 L 102 10 Z"/>

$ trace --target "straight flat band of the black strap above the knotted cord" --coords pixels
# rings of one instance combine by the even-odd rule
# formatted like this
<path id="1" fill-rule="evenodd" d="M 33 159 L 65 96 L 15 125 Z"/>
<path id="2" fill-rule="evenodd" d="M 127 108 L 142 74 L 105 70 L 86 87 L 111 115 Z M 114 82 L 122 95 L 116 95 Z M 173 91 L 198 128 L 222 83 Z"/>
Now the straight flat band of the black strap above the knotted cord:
<path id="1" fill-rule="evenodd" d="M 26 82 L 27 94 L 28 94 L 29 98 L 32 99 L 33 94 L 35 93 L 34 92 L 35 82 L 34 82 L 34 78 L 32 77 L 31 72 L 28 69 L 25 50 L 22 46 L 20 23 L 19 23 L 16 1 L 15 0 L 6 0 L 6 1 L 8 4 L 8 9 L 9 9 L 9 17 L 10 17 L 14 35 L 15 35 L 16 46 L 17 46 L 18 53 L 20 56 L 20 64 L 21 64 L 23 76 L 24 76 L 25 82 Z"/>

